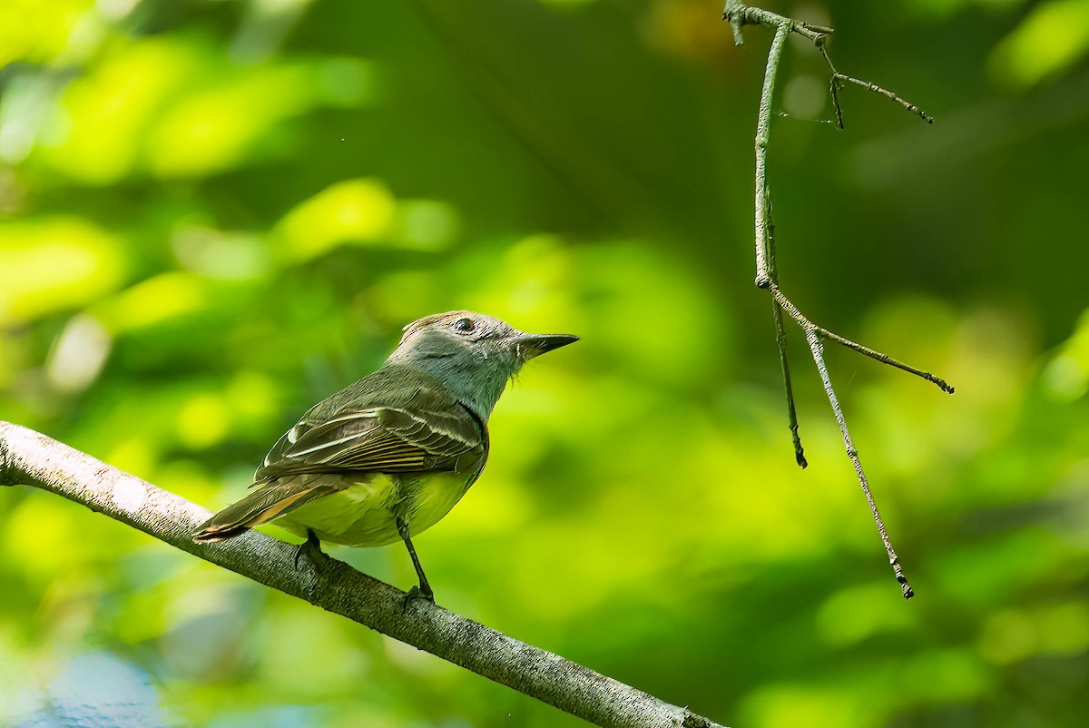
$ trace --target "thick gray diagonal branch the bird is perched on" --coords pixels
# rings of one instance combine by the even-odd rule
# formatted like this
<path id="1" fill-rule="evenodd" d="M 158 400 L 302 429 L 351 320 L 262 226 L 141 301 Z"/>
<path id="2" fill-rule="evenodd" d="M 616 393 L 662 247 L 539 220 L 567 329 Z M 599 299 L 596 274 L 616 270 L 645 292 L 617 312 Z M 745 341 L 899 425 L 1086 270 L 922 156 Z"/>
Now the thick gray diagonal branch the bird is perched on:
<path id="1" fill-rule="evenodd" d="M 365 624 L 599 726 L 722 728 L 685 707 L 506 636 L 327 558 L 250 531 L 194 544 L 210 511 L 26 427 L 0 422 L 0 485 L 33 485 L 175 548 Z"/>

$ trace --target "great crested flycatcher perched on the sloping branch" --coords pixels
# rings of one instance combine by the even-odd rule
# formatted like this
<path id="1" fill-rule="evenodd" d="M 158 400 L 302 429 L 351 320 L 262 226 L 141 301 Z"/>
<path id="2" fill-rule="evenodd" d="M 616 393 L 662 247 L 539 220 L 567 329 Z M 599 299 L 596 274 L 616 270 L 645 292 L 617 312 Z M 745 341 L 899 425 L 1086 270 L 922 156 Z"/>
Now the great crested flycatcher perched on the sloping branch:
<path id="1" fill-rule="evenodd" d="M 310 408 L 265 456 L 257 490 L 193 539 L 223 541 L 273 520 L 311 548 L 401 538 L 419 577 L 413 592 L 433 602 L 411 536 L 438 523 L 479 477 L 488 416 L 507 379 L 577 340 L 523 333 L 468 311 L 409 324 L 381 368 Z"/>

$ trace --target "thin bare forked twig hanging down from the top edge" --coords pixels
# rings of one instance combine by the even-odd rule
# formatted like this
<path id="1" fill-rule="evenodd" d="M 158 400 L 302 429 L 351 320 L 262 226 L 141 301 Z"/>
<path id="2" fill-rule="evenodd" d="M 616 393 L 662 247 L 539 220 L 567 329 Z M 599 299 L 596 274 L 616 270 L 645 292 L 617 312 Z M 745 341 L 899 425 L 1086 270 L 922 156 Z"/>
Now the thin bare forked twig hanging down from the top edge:
<path id="1" fill-rule="evenodd" d="M 896 581 L 901 584 L 904 598 L 909 599 L 915 595 L 915 592 L 913 591 L 910 584 L 908 584 L 907 578 L 904 577 L 904 571 L 900 566 L 900 559 L 896 557 L 896 551 L 893 549 L 892 542 L 889 539 L 884 522 L 881 520 L 881 513 L 878 511 L 877 502 L 873 500 L 873 494 L 870 492 L 869 481 L 866 477 L 866 472 L 862 470 L 861 460 L 858 458 L 858 450 L 855 448 L 854 441 L 851 438 L 851 433 L 847 429 L 847 421 L 843 415 L 843 409 L 840 407 L 840 401 L 832 387 L 832 379 L 828 374 L 828 366 L 824 363 L 824 347 L 822 339 L 829 339 L 883 364 L 895 366 L 900 369 L 908 372 L 909 374 L 921 377 L 935 384 L 943 391 L 951 395 L 953 393 L 953 387 L 946 384 L 944 379 L 941 379 L 929 372 L 923 372 L 914 366 L 909 366 L 886 354 L 870 349 L 869 347 L 865 347 L 860 343 L 856 343 L 813 324 L 805 315 L 803 315 L 798 307 L 795 306 L 779 288 L 779 272 L 775 268 L 774 226 L 771 221 L 771 195 L 768 192 L 768 141 L 771 133 L 771 101 L 775 92 L 775 75 L 779 71 L 780 61 L 782 60 L 783 46 L 786 41 L 786 36 L 791 33 L 795 33 L 808 39 L 813 44 L 813 46 L 817 47 L 821 56 L 823 56 L 824 60 L 828 62 L 829 69 L 832 71 L 832 106 L 835 109 L 836 122 L 841 129 L 843 128 L 843 110 L 840 107 L 840 88 L 844 83 L 853 83 L 877 94 L 881 94 L 882 96 L 896 101 L 908 111 L 917 114 L 927 123 L 933 123 L 933 119 L 931 119 L 926 112 L 914 104 L 904 100 L 896 94 L 882 88 L 877 84 L 872 84 L 867 81 L 859 81 L 858 78 L 854 78 L 836 71 L 825 48 L 825 44 L 832 34 L 832 28 L 800 23 L 790 17 L 768 12 L 767 10 L 749 8 L 741 2 L 736 2 L 735 0 L 729 0 L 726 2 L 722 17 L 730 23 L 734 34 L 734 43 L 738 46 L 744 43 L 742 37 L 742 26 L 744 25 L 762 25 L 767 28 L 773 29 L 775 33 L 771 41 L 771 48 L 768 50 L 768 64 L 763 74 L 763 87 L 760 93 L 760 107 L 757 114 L 756 128 L 756 284 L 758 288 L 767 289 L 772 296 L 775 340 L 779 345 L 779 359 L 783 369 L 783 385 L 786 391 L 787 417 L 794 441 L 795 459 L 802 468 L 806 466 L 807 463 L 802 449 L 802 440 L 798 436 L 798 420 L 794 407 L 794 390 L 791 385 L 791 371 L 786 355 L 786 332 L 783 327 L 783 312 L 793 318 L 805 331 L 806 342 L 809 344 L 809 353 L 812 355 L 813 363 L 817 365 L 817 372 L 820 374 L 821 383 L 824 385 L 824 393 L 828 396 L 828 400 L 832 405 L 832 414 L 835 416 L 835 421 L 840 425 L 840 433 L 843 435 L 843 444 L 847 449 L 847 457 L 851 458 L 851 462 L 855 466 L 855 474 L 858 477 L 858 484 L 862 488 L 862 494 L 866 496 L 867 503 L 869 503 L 873 522 L 877 524 L 878 533 L 881 535 L 881 543 L 884 545 L 885 551 L 889 555 L 889 563 L 892 566 L 893 574 L 896 577 Z"/>

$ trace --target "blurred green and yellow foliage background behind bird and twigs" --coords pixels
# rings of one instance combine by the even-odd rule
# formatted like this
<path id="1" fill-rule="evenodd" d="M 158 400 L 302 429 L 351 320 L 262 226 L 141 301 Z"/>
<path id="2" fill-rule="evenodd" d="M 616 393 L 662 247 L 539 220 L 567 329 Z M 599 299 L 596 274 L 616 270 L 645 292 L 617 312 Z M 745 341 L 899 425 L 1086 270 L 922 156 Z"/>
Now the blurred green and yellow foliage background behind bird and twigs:
<path id="1" fill-rule="evenodd" d="M 720 4 L 3 0 L 0 416 L 218 508 L 409 320 L 578 333 L 417 539 L 441 604 L 733 726 L 1084 725 L 1089 3 L 768 3 L 938 120 L 835 129 L 791 41 L 784 290 L 956 386 L 829 349 L 907 603 L 796 330 L 794 464 Z M 3 725 L 585 725 L 32 488 L 0 583 Z"/>

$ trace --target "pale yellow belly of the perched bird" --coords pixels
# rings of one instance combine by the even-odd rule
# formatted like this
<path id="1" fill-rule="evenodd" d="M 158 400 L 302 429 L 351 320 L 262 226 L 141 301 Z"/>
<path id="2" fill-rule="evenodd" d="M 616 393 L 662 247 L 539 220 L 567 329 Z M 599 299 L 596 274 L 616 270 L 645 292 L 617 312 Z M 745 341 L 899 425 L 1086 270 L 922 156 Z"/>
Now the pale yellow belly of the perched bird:
<path id="1" fill-rule="evenodd" d="M 400 541 L 396 519 L 415 536 L 438 523 L 465 495 L 466 473 L 375 474 L 303 503 L 274 520 L 287 531 L 345 546 L 384 546 Z"/>

